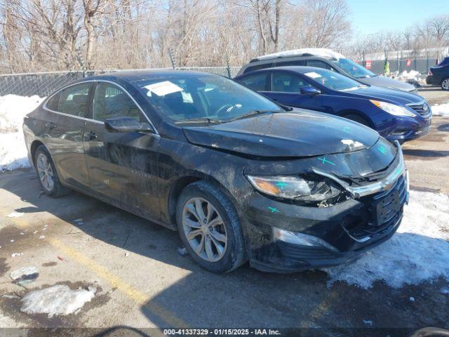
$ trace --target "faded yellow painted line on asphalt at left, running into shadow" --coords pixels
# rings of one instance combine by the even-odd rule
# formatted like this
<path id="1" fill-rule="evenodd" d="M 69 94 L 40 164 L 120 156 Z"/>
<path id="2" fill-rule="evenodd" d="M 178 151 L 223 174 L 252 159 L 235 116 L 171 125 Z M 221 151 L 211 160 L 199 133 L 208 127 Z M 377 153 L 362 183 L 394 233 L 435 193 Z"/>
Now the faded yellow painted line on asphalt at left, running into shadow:
<path id="1" fill-rule="evenodd" d="M 161 305 L 151 303 L 151 298 L 149 298 L 147 294 L 134 289 L 133 286 L 123 281 L 123 279 L 121 279 L 120 277 L 114 275 L 114 273 L 107 270 L 107 268 L 95 263 L 95 261 L 91 258 L 84 256 L 79 251 L 76 251 L 76 249 L 72 249 L 71 247 L 66 246 L 58 239 L 48 239 L 48 242 L 50 242 L 50 244 L 55 248 L 59 249 L 67 256 L 75 260 L 77 263 L 88 267 L 88 269 L 92 270 L 95 275 L 101 277 L 102 279 L 105 279 L 105 281 L 109 282 L 114 288 L 119 289 L 128 298 L 133 300 L 135 303 L 138 303 L 138 305 L 142 305 L 142 307 L 147 308 L 150 312 L 162 319 L 164 322 L 168 323 L 170 326 L 185 328 L 188 327 L 188 324 L 182 321 L 182 319 L 177 318 L 173 314 L 173 312 L 162 308 Z"/>

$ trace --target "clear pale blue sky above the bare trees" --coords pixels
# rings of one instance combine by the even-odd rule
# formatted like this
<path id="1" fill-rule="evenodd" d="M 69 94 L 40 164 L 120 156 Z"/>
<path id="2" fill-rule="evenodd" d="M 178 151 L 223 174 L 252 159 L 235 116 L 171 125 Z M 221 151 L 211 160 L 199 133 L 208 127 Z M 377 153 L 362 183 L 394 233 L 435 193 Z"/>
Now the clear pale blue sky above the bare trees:
<path id="1" fill-rule="evenodd" d="M 403 30 L 434 15 L 449 15 L 449 0 L 347 0 L 356 35 Z"/>

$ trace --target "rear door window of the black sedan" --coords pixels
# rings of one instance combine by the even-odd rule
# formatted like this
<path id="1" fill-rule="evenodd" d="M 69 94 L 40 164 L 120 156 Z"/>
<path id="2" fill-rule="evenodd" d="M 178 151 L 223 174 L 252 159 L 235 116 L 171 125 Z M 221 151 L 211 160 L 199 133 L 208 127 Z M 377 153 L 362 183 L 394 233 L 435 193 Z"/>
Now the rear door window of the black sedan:
<path id="1" fill-rule="evenodd" d="M 91 83 L 69 86 L 48 101 L 48 108 L 77 117 L 88 117 L 88 96 Z M 53 100 L 54 99 L 54 100 Z M 58 100 L 58 104 L 56 104 Z"/>

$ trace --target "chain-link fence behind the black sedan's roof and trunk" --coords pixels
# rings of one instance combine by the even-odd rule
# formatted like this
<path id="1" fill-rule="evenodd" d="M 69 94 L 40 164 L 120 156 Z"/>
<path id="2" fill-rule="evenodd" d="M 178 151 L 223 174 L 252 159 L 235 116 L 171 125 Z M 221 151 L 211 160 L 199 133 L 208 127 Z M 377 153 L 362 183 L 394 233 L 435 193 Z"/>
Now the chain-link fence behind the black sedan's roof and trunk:
<path id="1" fill-rule="evenodd" d="M 209 72 L 211 74 L 232 78 L 236 76 L 237 72 L 239 72 L 240 67 L 179 67 L 176 69 L 181 71 L 190 70 L 195 72 Z M 0 96 L 13 94 L 21 96 L 39 95 L 40 97 L 45 97 L 53 93 L 58 88 L 61 88 L 76 79 L 117 71 L 119 70 L 2 74 L 0 75 Z"/>

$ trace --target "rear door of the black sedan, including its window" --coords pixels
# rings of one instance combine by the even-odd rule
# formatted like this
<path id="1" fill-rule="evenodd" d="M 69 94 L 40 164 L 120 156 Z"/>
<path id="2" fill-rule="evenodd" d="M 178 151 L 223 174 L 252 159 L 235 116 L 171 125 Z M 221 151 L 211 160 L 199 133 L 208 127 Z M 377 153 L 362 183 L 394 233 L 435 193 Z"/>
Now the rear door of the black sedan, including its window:
<path id="1" fill-rule="evenodd" d="M 42 135 L 60 179 L 83 190 L 89 187 L 82 137 L 91 88 L 91 82 L 76 84 L 53 95 L 46 103 Z"/>

